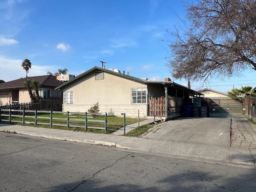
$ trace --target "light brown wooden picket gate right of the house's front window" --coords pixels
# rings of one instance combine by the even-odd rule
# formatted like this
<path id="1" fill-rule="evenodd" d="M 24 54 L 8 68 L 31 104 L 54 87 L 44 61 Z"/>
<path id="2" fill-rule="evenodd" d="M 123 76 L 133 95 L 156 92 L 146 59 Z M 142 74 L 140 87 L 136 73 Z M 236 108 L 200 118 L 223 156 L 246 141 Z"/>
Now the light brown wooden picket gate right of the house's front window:
<path id="1" fill-rule="evenodd" d="M 165 97 L 148 98 L 148 116 L 165 116 Z"/>

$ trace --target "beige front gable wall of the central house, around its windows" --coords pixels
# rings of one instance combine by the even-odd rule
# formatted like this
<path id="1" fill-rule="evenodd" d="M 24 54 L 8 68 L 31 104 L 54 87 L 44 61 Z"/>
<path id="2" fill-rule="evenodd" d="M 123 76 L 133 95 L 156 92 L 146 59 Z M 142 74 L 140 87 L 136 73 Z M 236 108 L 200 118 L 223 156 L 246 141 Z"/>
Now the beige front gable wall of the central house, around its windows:
<path id="1" fill-rule="evenodd" d="M 138 110 L 146 116 L 147 104 L 132 104 L 131 89 L 147 88 L 138 83 L 104 72 L 104 80 L 95 80 L 95 72 L 64 87 L 63 92 L 73 91 L 73 104 L 63 104 L 63 111 L 86 112 L 99 102 L 100 112 L 121 116 L 138 116 Z"/>

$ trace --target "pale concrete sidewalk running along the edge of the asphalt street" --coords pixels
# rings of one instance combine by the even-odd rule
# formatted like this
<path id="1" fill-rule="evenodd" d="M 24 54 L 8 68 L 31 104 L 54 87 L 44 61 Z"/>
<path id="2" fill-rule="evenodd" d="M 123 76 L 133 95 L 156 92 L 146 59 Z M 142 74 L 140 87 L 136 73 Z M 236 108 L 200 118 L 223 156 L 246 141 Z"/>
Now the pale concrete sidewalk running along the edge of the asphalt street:
<path id="1" fill-rule="evenodd" d="M 143 123 L 146 124 L 148 123 L 148 121 L 149 120 L 146 120 L 146 122 L 140 122 L 140 125 L 142 125 Z M 238 127 L 244 127 L 246 129 L 248 128 L 248 126 L 256 127 L 256 125 L 251 124 L 250 121 L 246 120 L 246 118 L 237 118 L 235 121 L 232 120 L 232 122 L 233 125 L 234 122 L 236 122 Z M 164 125 L 166 125 L 166 122 L 159 125 L 156 124 L 156 126 L 154 126 L 154 128 L 152 129 L 157 132 L 157 130 L 161 128 L 159 126 Z M 136 126 L 138 126 L 138 124 L 129 125 L 127 126 L 127 130 L 129 130 L 129 128 L 132 129 Z M 218 126 L 218 124 L 214 123 L 209 126 Z M 254 148 L 253 146 L 251 146 L 250 148 L 230 147 L 217 146 L 212 144 L 176 142 L 152 138 L 120 136 L 121 132 L 123 133 L 123 130 L 120 130 L 120 132 L 116 134 L 94 134 L 86 132 L 73 132 L 68 130 L 0 124 L 0 131 L 4 130 L 15 131 L 18 134 L 25 134 L 30 136 L 84 142 L 89 144 L 101 144 L 107 146 L 116 146 L 118 148 L 152 152 L 157 154 L 180 156 L 180 158 L 198 158 L 203 160 L 232 162 L 246 165 L 255 165 L 256 160 L 256 148 Z M 246 136 L 247 135 L 245 135 L 245 137 Z M 256 132 L 255 134 L 251 134 L 250 136 L 252 136 L 255 141 Z"/>

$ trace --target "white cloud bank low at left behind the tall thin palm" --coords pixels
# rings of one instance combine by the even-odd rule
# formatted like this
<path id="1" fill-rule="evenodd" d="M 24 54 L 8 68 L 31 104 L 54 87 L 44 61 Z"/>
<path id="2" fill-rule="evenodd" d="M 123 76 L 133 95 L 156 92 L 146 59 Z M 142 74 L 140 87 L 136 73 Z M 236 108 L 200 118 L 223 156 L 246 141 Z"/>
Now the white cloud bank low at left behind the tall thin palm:
<path id="1" fill-rule="evenodd" d="M 26 77 L 26 71 L 22 68 L 23 60 L 14 59 L 14 58 L 6 58 L 4 56 L 0 56 L 1 70 L 0 70 L 0 79 L 6 82 L 16 80 L 19 78 Z M 54 66 L 38 66 L 30 60 L 32 66 L 28 71 L 28 76 L 41 76 L 47 75 L 48 71 L 52 71 Z M 3 67 L 2 67 L 3 65 Z M 57 69 L 58 67 L 56 67 Z"/>

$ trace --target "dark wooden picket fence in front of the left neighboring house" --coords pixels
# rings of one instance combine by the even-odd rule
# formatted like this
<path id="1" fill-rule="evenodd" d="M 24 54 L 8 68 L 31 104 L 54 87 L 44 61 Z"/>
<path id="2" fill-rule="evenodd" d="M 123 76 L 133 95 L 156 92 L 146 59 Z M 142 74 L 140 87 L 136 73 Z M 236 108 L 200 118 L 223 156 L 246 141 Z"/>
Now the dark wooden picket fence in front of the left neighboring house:
<path id="1" fill-rule="evenodd" d="M 41 99 L 36 103 L 6 104 L 5 106 L 0 106 L 0 109 L 62 111 L 62 104 L 62 97 L 50 97 Z"/>

